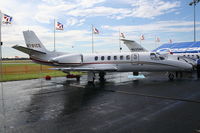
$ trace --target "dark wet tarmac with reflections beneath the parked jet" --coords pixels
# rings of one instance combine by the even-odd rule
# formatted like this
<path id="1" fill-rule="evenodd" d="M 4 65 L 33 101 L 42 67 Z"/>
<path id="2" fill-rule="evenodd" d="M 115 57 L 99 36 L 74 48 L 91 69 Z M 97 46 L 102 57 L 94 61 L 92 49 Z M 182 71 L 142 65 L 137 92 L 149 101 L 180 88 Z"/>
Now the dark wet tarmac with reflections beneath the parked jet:
<path id="1" fill-rule="evenodd" d="M 4 82 L 0 132 L 198 133 L 200 80 L 107 75 L 105 83 L 66 78 Z"/>

